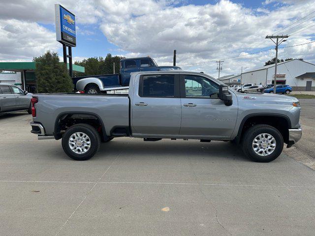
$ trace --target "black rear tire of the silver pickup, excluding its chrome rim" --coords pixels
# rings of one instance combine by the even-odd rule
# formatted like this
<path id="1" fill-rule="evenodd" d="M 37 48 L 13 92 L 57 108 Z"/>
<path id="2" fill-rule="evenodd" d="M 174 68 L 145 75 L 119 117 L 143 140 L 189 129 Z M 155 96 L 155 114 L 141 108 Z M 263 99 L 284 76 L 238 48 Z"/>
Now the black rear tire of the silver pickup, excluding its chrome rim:
<path id="1" fill-rule="evenodd" d="M 90 148 L 85 153 L 75 153 L 73 150 L 71 150 L 69 146 L 70 137 L 77 132 L 82 132 L 86 134 L 91 142 Z M 62 146 L 64 152 L 72 159 L 76 161 L 85 161 L 89 160 L 97 152 L 100 146 L 100 137 L 96 129 L 92 125 L 75 124 L 68 128 L 63 134 Z"/>

